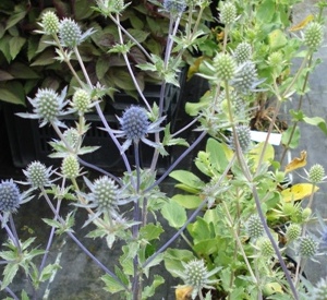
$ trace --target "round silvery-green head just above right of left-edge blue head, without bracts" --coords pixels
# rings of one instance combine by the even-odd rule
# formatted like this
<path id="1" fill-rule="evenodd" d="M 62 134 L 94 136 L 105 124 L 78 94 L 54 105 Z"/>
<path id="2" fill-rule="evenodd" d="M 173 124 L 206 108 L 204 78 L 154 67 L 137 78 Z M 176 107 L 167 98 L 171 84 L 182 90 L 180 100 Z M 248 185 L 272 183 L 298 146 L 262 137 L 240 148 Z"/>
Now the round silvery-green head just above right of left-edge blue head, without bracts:
<path id="1" fill-rule="evenodd" d="M 49 185 L 50 176 L 52 173 L 51 168 L 47 168 L 40 161 L 31 163 L 23 172 L 27 178 L 27 182 L 33 188 L 44 188 Z"/>

